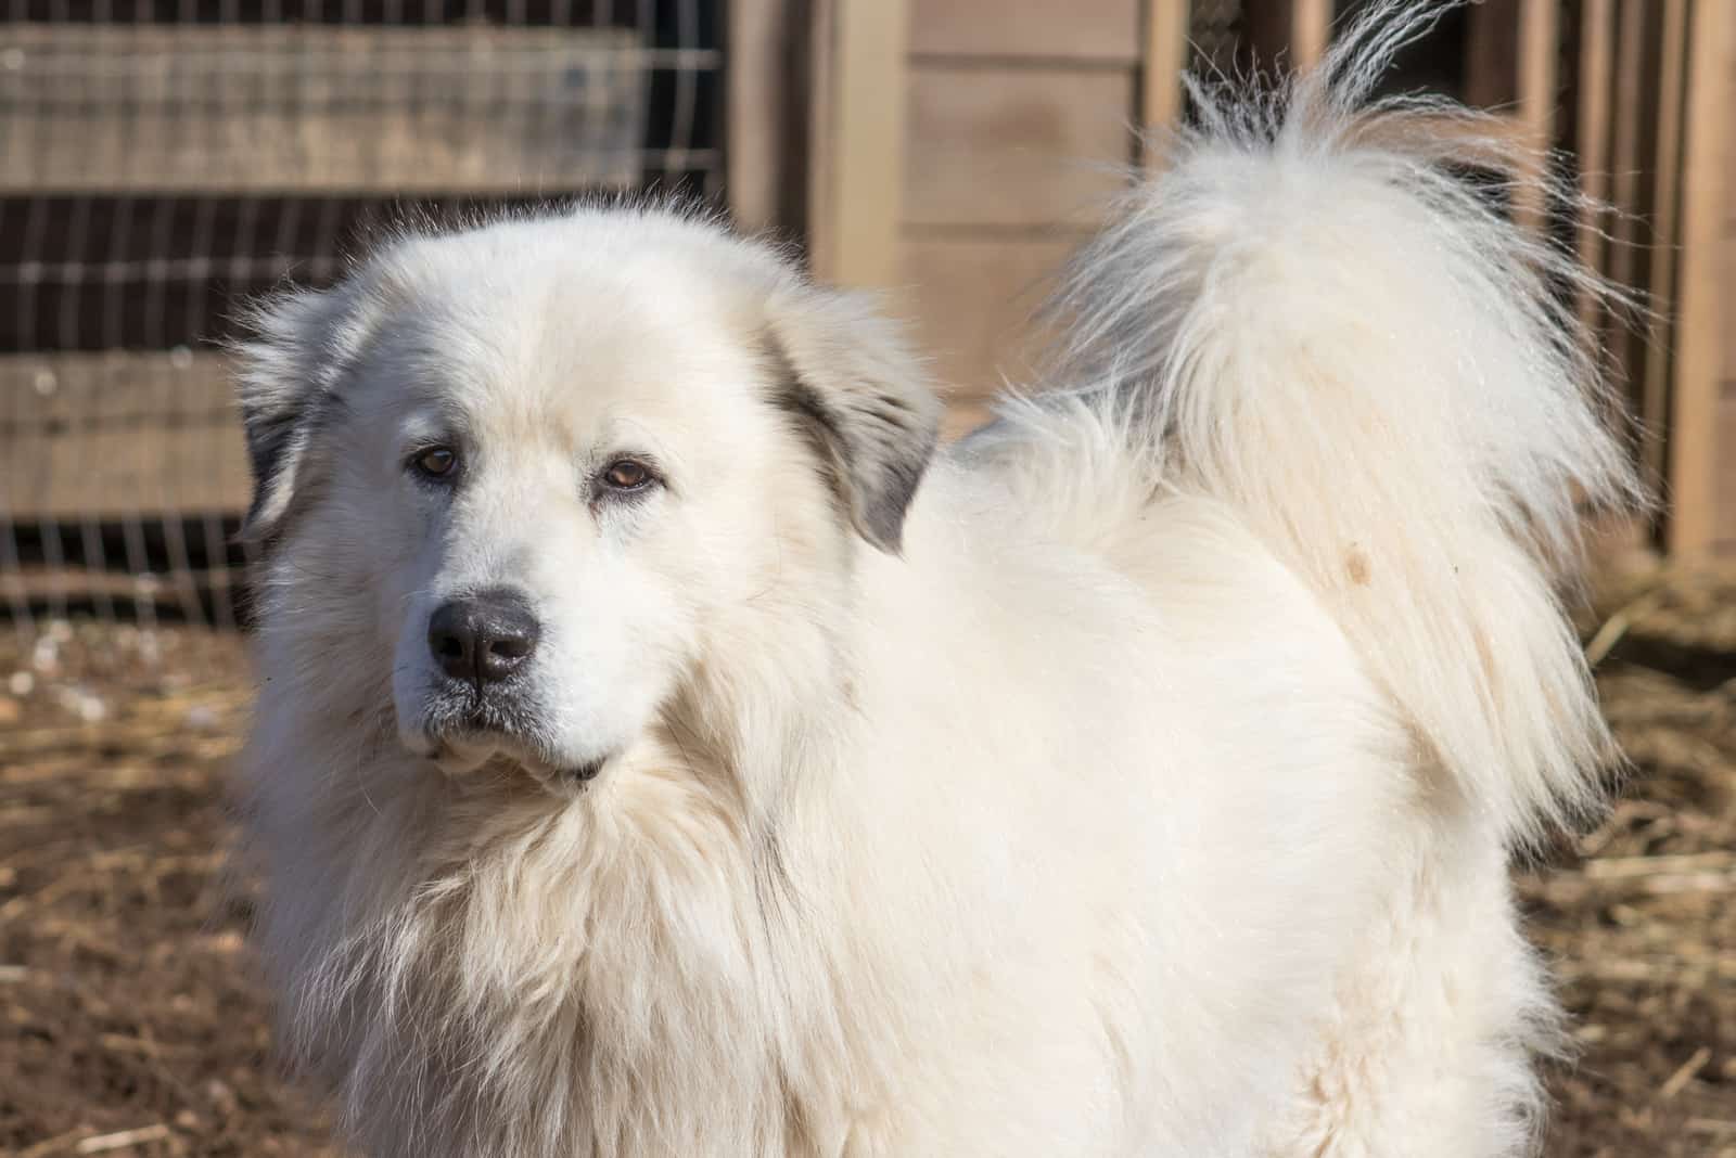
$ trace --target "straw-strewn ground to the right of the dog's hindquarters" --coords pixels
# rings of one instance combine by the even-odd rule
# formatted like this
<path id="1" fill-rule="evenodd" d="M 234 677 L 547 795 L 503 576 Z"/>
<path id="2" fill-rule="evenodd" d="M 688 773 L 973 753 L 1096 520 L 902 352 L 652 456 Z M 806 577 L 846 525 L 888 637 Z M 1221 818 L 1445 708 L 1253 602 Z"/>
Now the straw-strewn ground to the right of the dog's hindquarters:
<path id="1" fill-rule="evenodd" d="M 1519 875 L 1580 1044 L 1547 1153 L 1736 1158 L 1736 572 L 1609 603 L 1592 654 L 1630 780 L 1578 848 Z"/>

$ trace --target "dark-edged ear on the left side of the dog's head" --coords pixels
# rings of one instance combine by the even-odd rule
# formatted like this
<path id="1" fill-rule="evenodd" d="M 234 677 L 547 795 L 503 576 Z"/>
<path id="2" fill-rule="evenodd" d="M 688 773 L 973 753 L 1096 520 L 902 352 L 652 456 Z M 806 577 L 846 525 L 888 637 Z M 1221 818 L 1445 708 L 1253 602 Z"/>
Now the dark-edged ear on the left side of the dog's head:
<path id="1" fill-rule="evenodd" d="M 236 383 L 253 499 L 241 539 L 269 543 L 306 494 L 319 428 L 340 409 L 337 383 L 373 329 L 373 295 L 359 281 L 292 290 L 252 309 L 234 343 Z"/>

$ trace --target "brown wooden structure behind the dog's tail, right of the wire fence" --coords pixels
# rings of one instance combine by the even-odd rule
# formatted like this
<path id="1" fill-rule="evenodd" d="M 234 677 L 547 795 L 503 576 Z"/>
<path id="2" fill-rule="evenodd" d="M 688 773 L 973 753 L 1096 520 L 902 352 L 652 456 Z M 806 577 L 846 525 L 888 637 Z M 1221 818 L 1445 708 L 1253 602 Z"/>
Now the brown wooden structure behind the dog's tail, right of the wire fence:
<path id="1" fill-rule="evenodd" d="M 738 24 L 757 21 L 762 42 L 797 17 L 809 36 L 802 66 L 774 81 L 800 97 L 786 101 L 807 123 L 800 163 L 757 170 L 783 194 L 746 220 L 795 224 L 823 276 L 887 290 L 936 352 L 953 428 L 967 428 L 1028 371 L 1031 314 L 1146 161 L 1139 130 L 1184 114 L 1182 68 L 1307 68 L 1368 2 L 738 0 Z M 1667 499 L 1641 534 L 1680 555 L 1736 553 L 1733 24 L 1727 0 L 1483 0 L 1450 12 L 1389 80 L 1495 111 L 1620 210 L 1510 206 L 1656 319 L 1585 307 Z M 769 99 L 753 73 L 736 87 L 748 104 Z M 755 163 L 733 151 L 733 189 L 736 166 Z"/>

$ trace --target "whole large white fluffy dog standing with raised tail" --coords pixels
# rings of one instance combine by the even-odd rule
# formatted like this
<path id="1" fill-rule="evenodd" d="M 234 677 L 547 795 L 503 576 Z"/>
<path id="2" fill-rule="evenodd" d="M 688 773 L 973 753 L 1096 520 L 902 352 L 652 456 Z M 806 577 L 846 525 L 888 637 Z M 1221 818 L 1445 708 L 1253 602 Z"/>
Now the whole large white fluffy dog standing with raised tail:
<path id="1" fill-rule="evenodd" d="M 658 208 L 401 231 L 243 348 L 245 822 L 380 1156 L 1483 1158 L 1601 796 L 1588 276 L 1366 95 L 1196 92 L 1042 388 Z"/>

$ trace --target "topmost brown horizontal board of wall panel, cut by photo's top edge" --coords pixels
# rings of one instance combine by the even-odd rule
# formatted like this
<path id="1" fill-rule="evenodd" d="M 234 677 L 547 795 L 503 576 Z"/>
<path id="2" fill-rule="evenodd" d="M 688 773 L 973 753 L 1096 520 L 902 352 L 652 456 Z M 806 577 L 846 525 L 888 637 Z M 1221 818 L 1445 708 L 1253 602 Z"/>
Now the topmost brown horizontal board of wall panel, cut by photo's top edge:
<path id="1" fill-rule="evenodd" d="M 913 0 L 917 55 L 1139 59 L 1139 0 Z"/>

